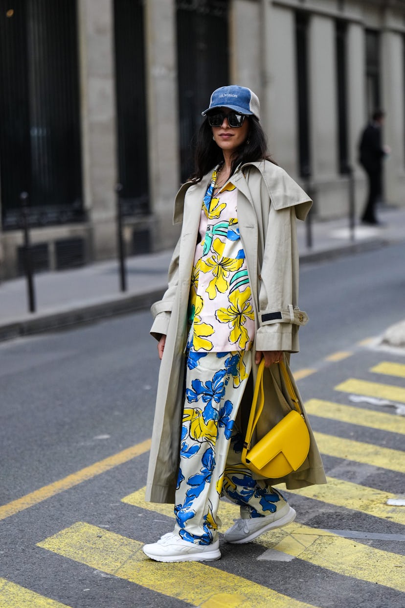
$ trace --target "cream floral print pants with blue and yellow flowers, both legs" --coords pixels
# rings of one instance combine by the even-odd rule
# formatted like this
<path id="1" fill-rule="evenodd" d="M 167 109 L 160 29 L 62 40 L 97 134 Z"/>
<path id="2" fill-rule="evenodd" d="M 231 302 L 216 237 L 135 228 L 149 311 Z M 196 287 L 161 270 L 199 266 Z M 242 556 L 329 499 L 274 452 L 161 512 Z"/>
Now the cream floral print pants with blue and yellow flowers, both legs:
<path id="1" fill-rule="evenodd" d="M 183 540 L 216 540 L 220 496 L 240 505 L 242 519 L 263 517 L 285 505 L 282 495 L 240 461 L 243 437 L 234 424 L 251 371 L 251 351 L 189 350 L 175 530 Z"/>

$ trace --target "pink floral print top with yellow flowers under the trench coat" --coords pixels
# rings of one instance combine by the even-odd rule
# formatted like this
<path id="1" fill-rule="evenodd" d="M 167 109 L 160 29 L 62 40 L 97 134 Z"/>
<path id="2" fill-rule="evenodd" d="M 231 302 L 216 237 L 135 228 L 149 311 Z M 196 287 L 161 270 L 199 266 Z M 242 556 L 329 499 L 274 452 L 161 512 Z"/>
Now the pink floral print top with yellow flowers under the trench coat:
<path id="1" fill-rule="evenodd" d="M 237 189 L 228 182 L 213 196 L 216 178 L 214 170 L 202 204 L 191 275 L 188 348 L 213 353 L 250 350 L 254 312 L 237 224 Z"/>

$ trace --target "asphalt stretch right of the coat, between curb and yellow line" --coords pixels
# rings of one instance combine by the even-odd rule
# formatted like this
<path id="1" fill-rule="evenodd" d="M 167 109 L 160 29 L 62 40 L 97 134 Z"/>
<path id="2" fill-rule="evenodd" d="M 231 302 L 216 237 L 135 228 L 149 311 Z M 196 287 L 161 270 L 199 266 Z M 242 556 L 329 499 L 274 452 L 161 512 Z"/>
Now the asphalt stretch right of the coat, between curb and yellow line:
<path id="1" fill-rule="evenodd" d="M 302 264 L 299 306 L 310 320 L 295 367 L 308 367 L 405 318 L 405 241 L 323 264 Z"/>

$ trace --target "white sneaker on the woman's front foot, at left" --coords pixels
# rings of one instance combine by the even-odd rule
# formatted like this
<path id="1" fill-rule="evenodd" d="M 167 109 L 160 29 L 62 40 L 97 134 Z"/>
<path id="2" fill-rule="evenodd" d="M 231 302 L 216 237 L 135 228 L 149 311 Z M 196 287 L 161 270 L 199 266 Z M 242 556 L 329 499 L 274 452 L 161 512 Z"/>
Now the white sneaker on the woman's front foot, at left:
<path id="1" fill-rule="evenodd" d="M 143 553 L 157 562 L 203 562 L 219 559 L 219 541 L 211 545 L 195 545 L 183 541 L 179 534 L 169 532 L 151 545 L 143 547 Z"/>

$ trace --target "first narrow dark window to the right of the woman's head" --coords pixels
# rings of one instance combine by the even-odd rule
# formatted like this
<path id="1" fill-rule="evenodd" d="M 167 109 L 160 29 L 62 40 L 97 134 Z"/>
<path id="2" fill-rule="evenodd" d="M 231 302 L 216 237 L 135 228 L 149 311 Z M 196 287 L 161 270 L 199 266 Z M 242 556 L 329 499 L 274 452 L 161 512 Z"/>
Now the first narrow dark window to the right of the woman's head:
<path id="1" fill-rule="evenodd" d="M 308 88 L 308 16 L 296 12 L 296 65 L 298 89 L 298 163 L 302 177 L 311 174 Z"/>

